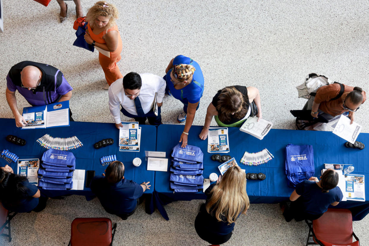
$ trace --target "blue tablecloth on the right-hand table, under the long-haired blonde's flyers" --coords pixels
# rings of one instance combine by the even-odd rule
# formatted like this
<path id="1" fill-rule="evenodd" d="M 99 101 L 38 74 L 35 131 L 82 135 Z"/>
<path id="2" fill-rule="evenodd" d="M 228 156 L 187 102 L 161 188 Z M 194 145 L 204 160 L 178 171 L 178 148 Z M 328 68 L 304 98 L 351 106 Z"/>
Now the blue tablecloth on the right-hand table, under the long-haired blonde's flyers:
<path id="1" fill-rule="evenodd" d="M 211 160 L 212 154 L 207 152 L 207 139 L 201 140 L 199 138 L 201 129 L 201 126 L 191 127 L 188 143 L 200 147 L 203 151 L 203 176 L 205 179 L 208 179 L 210 173 L 220 174 L 218 166 L 221 163 Z M 165 151 L 167 158 L 169 158 L 169 163 L 171 161 L 170 152 L 178 143 L 182 131 L 182 125 L 160 125 L 158 127 L 156 150 Z M 228 154 L 220 153 L 220 155 L 235 157 L 239 166 L 245 169 L 246 173 L 262 172 L 266 175 L 266 179 L 263 181 L 247 181 L 246 191 L 252 203 L 278 203 L 289 198 L 293 188 L 287 186 L 287 178 L 284 171 L 285 147 L 289 143 L 313 145 L 315 176 L 318 178 L 321 176 L 324 163 L 352 164 L 355 167 L 353 173 L 364 174 L 366 177 L 369 177 L 369 165 L 363 162 L 363 160 L 369 159 L 369 148 L 363 150 L 348 149 L 344 146 L 346 141 L 332 132 L 271 129 L 263 140 L 259 140 L 239 131 L 239 128 L 230 127 L 228 128 L 228 135 L 230 152 Z M 369 134 L 361 133 L 357 140 L 365 143 L 365 139 L 368 138 Z M 275 158 L 260 166 L 244 166 L 240 164 L 240 159 L 245 151 L 258 152 L 264 148 L 267 148 Z M 173 193 L 169 187 L 169 175 L 169 171 L 155 172 L 155 203 L 166 219 L 168 219 L 168 216 L 162 205 L 175 200 L 206 198 L 202 191 L 198 193 Z M 369 188 L 366 188 L 365 193 L 365 202 L 344 201 L 340 202 L 336 207 L 349 208 L 352 211 L 353 219 L 360 220 L 369 213 Z"/>

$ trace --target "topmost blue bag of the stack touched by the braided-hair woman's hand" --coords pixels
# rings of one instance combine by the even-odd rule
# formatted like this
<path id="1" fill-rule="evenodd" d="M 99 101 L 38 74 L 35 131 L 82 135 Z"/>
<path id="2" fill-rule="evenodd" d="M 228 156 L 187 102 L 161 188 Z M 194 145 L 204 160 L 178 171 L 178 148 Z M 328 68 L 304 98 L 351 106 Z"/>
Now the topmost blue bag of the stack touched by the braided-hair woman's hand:
<path id="1" fill-rule="evenodd" d="M 183 160 L 184 162 L 203 162 L 203 152 L 197 146 L 187 145 L 186 148 L 182 148 L 180 144 L 177 144 L 172 151 L 172 157 L 175 160 Z"/>

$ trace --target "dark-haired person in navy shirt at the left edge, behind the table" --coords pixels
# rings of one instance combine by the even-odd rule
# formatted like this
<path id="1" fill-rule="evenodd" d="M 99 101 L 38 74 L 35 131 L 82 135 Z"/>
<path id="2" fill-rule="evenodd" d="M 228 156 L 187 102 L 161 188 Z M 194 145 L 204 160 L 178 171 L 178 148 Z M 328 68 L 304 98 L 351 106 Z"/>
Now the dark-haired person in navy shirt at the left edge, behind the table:
<path id="1" fill-rule="evenodd" d="M 37 186 L 14 174 L 10 166 L 0 168 L 0 201 L 4 208 L 18 213 L 41 212 L 48 198 L 40 195 Z"/>

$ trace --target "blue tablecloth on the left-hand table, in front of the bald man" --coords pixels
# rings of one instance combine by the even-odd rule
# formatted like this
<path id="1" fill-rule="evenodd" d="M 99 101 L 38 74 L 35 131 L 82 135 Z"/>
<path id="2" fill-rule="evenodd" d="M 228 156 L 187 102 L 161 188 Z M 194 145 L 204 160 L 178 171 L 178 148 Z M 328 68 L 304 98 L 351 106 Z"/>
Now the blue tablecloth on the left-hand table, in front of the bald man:
<path id="1" fill-rule="evenodd" d="M 140 125 L 142 132 L 141 150 L 140 152 L 120 152 L 118 149 L 119 130 L 111 123 L 96 123 L 96 122 L 70 122 L 69 127 L 55 127 L 46 129 L 21 129 L 15 127 L 14 119 L 0 119 L 1 133 L 0 133 L 0 151 L 8 149 L 10 152 L 19 156 L 19 159 L 39 158 L 41 160 L 42 154 L 46 149 L 42 148 L 36 140 L 45 134 L 53 137 L 66 138 L 70 136 L 77 136 L 83 143 L 83 146 L 77 149 L 70 150 L 76 157 L 76 169 L 95 170 L 95 175 L 101 175 L 106 166 L 102 166 L 100 158 L 107 155 L 116 155 L 117 160 L 123 162 L 125 167 L 124 176 L 127 179 L 134 180 L 141 184 L 144 181 L 150 181 L 151 189 L 146 190 L 146 212 L 151 214 L 154 211 L 152 204 L 152 193 L 154 191 L 154 171 L 146 170 L 145 150 L 154 151 L 156 148 L 156 127 L 151 125 Z M 14 143 L 6 141 L 7 135 L 15 135 L 26 140 L 25 146 L 18 146 Z M 95 149 L 94 143 L 106 139 L 113 138 L 113 145 Z M 147 141 L 148 139 L 152 141 Z M 132 160 L 139 157 L 142 160 L 142 165 L 135 167 Z M 0 166 L 9 164 L 17 172 L 17 164 L 14 162 L 7 163 L 0 158 Z M 86 183 L 86 175 L 85 175 Z M 61 195 L 86 195 L 92 197 L 93 193 L 90 188 L 84 186 L 83 190 L 66 190 L 66 191 L 49 191 L 41 190 L 41 193 L 48 197 L 56 197 Z"/>

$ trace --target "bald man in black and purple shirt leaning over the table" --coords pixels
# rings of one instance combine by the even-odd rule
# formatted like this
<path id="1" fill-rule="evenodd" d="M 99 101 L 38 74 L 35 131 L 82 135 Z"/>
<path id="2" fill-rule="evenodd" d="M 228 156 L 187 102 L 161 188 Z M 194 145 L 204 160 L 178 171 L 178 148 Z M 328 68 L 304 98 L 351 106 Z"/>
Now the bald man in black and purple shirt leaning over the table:
<path id="1" fill-rule="evenodd" d="M 53 66 L 38 62 L 24 61 L 14 65 L 9 70 L 6 81 L 6 100 L 13 112 L 17 127 L 23 127 L 26 122 L 18 111 L 16 90 L 32 106 L 67 101 L 72 96 L 73 88 L 66 81 L 63 73 Z M 72 115 L 70 110 L 69 115 Z M 70 120 L 73 119 L 70 118 Z"/>

